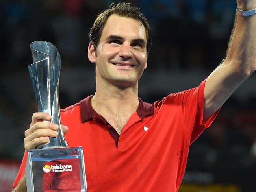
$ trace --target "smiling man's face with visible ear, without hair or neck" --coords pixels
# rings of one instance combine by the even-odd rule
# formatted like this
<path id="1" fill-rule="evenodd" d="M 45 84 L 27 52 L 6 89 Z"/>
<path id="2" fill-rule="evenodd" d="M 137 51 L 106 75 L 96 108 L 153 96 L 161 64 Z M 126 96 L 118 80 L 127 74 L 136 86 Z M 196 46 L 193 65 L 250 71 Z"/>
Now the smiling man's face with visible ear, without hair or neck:
<path id="1" fill-rule="evenodd" d="M 97 56 L 89 45 L 88 57 L 96 63 L 97 83 L 135 85 L 147 67 L 146 43 L 145 29 L 139 22 L 111 15 L 102 31 Z"/>

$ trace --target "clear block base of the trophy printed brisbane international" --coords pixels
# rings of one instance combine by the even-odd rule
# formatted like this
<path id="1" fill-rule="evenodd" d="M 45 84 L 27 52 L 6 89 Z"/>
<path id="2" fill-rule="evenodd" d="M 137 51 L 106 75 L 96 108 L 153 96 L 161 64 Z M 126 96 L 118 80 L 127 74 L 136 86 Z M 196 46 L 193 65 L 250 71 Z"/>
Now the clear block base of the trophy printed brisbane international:
<path id="1" fill-rule="evenodd" d="M 82 147 L 28 150 L 28 192 L 86 192 Z"/>

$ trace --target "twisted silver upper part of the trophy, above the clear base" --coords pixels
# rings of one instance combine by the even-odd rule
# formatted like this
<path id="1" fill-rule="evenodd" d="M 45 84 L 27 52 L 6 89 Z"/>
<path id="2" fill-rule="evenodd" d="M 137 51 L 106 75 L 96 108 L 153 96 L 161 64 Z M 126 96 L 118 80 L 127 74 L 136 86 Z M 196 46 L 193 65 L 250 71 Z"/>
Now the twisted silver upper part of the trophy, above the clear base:
<path id="1" fill-rule="evenodd" d="M 60 55 L 57 48 L 46 41 L 35 41 L 30 45 L 33 64 L 28 66 L 30 78 L 35 92 L 38 112 L 45 112 L 52 116 L 50 122 L 59 126 L 58 136 L 50 137 L 48 144 L 37 148 L 68 147 L 61 129 L 59 113 L 59 74 Z"/>

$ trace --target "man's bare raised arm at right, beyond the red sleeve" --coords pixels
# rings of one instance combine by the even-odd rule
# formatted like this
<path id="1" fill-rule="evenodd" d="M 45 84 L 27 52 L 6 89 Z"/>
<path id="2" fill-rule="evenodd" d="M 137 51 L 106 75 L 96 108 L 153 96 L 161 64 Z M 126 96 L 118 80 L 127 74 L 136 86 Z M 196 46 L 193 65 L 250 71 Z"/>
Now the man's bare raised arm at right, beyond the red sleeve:
<path id="1" fill-rule="evenodd" d="M 240 10 L 256 9 L 256 0 L 237 0 Z M 256 14 L 236 19 L 226 58 L 207 78 L 204 120 L 215 113 L 236 88 L 256 69 Z"/>

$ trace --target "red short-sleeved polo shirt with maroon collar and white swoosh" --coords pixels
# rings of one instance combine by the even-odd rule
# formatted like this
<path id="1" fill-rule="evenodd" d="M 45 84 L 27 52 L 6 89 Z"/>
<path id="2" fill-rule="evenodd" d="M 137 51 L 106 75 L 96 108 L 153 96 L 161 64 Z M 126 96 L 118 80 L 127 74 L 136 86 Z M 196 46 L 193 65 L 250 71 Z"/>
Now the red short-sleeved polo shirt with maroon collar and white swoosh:
<path id="1" fill-rule="evenodd" d="M 178 191 L 189 145 L 209 127 L 202 122 L 204 84 L 139 107 L 121 135 L 91 107 L 89 96 L 61 110 L 70 147 L 82 146 L 88 192 Z M 26 153 L 14 186 L 24 174 Z"/>

